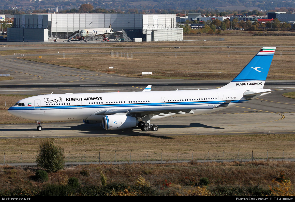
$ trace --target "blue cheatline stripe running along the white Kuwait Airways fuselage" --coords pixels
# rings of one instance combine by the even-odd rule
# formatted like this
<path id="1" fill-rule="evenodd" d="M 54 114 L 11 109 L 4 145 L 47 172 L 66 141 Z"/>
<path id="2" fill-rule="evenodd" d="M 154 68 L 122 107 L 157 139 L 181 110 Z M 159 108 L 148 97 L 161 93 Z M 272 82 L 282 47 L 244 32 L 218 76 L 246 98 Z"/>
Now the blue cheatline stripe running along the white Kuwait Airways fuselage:
<path id="1" fill-rule="evenodd" d="M 117 104 L 117 105 L 82 105 L 83 109 L 90 109 L 90 108 L 117 108 L 117 107 L 156 107 L 156 106 L 185 106 L 185 105 L 209 105 L 209 104 L 220 104 L 222 101 L 199 101 L 199 102 L 166 102 L 165 105 L 160 103 L 137 103 L 137 104 Z M 245 102 L 248 100 L 232 100 L 230 103 L 238 103 L 238 102 Z M 80 105 L 81 106 L 81 105 Z M 73 106 L 46 106 L 41 107 L 41 110 L 62 110 L 62 109 L 77 109 L 76 105 Z M 8 110 L 34 110 L 34 107 L 10 107 Z"/>

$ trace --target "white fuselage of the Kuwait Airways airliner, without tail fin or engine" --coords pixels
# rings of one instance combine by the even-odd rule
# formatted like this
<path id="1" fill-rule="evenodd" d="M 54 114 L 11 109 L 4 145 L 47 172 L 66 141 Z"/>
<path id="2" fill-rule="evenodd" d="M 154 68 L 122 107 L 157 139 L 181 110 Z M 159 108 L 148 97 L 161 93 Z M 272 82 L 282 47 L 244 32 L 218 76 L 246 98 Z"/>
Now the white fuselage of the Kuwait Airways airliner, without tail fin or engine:
<path id="1" fill-rule="evenodd" d="M 249 89 L 253 91 L 253 89 Z M 254 89 L 264 92 L 267 89 Z M 9 108 L 9 113 L 17 117 L 40 121 L 86 120 L 101 122 L 104 115 L 96 113 L 105 109 L 136 109 L 159 107 L 189 107 L 194 113 L 163 113 L 153 115 L 151 120 L 193 116 L 215 112 L 247 101 L 243 98 L 246 90 L 177 90 L 151 92 L 107 92 L 38 95 L 19 100 Z M 263 94 L 265 95 L 265 94 Z M 256 96 L 258 97 L 258 96 Z M 255 97 L 253 97 L 255 98 Z M 226 107 L 217 106 L 226 100 L 231 100 Z M 200 109 L 212 106 L 211 109 Z M 214 108 L 217 107 L 217 108 Z M 198 109 L 199 108 L 199 109 Z M 137 116 L 140 120 L 140 115 Z"/>

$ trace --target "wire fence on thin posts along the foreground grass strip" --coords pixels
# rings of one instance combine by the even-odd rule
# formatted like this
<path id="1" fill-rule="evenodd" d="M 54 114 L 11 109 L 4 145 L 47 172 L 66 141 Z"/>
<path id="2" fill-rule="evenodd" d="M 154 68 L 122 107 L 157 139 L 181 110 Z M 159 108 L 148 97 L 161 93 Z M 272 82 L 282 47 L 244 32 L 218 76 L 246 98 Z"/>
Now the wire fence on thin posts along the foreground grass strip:
<path id="1" fill-rule="evenodd" d="M 146 152 L 130 150 L 85 150 L 65 151 L 65 164 L 90 164 L 90 163 L 181 163 L 181 162 L 225 162 L 249 160 L 288 160 L 293 161 L 292 151 L 281 149 L 253 149 L 227 151 L 224 150 L 147 150 Z M 0 163 L 35 163 L 37 151 L 21 151 L 19 153 L 3 151 Z"/>

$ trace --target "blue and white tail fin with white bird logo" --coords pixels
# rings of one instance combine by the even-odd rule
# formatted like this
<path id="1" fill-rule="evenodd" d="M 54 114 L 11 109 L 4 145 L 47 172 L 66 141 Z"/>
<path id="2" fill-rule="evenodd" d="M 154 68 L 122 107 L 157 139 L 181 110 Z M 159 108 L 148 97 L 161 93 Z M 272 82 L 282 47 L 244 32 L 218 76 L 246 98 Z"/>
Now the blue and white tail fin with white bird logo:
<path id="1" fill-rule="evenodd" d="M 229 84 L 220 89 L 263 88 L 276 47 L 263 47 Z"/>

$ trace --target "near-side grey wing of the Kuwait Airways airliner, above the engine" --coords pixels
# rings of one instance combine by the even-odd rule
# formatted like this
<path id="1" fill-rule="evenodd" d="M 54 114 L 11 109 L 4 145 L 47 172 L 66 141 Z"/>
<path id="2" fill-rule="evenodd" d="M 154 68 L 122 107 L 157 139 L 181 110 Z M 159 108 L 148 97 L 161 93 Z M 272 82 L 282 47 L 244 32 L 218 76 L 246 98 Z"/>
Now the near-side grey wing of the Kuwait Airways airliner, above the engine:
<path id="1" fill-rule="evenodd" d="M 95 115 L 112 115 L 119 113 L 126 113 L 126 115 L 131 113 L 139 113 L 140 116 L 147 114 L 194 114 L 192 110 L 198 109 L 213 109 L 215 107 L 226 107 L 231 100 L 221 103 L 218 106 L 200 106 L 200 107 L 173 107 L 173 106 L 162 106 L 162 107 L 140 107 L 140 108 L 128 108 L 128 109 L 104 109 L 96 112 Z"/>

